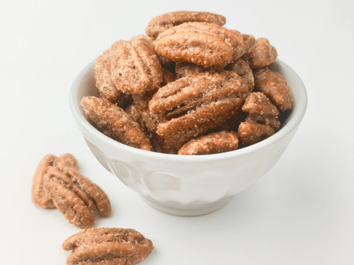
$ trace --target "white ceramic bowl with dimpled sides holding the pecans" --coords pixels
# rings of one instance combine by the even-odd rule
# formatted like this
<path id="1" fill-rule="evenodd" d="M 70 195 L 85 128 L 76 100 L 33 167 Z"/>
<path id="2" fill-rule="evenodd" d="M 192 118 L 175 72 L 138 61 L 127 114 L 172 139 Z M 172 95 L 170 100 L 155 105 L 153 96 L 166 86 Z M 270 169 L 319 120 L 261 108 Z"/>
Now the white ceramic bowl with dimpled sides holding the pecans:
<path id="1" fill-rule="evenodd" d="M 178 216 L 198 216 L 221 208 L 264 175 L 279 160 L 295 135 L 307 107 L 299 76 L 279 59 L 272 68 L 287 80 L 294 98 L 280 131 L 236 151 L 214 155 L 170 155 L 143 151 L 108 138 L 86 121 L 80 101 L 96 95 L 92 61 L 75 79 L 70 106 L 81 133 L 97 160 L 148 204 Z"/>

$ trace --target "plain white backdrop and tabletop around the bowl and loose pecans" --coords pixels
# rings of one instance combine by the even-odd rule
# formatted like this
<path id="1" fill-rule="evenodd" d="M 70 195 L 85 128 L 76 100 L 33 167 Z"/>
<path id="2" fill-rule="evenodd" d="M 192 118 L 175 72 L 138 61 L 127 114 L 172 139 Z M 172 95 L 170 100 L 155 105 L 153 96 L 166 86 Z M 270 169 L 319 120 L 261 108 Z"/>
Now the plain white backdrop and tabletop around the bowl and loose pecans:
<path id="1" fill-rule="evenodd" d="M 81 69 L 116 40 L 170 11 L 210 11 L 227 28 L 267 37 L 302 78 L 307 113 L 270 172 L 219 211 L 156 211 L 93 157 L 69 110 Z M 96 227 L 134 228 L 154 242 L 140 264 L 354 264 L 354 1 L 1 1 L 1 264 L 65 264 L 80 229 L 34 205 L 47 153 L 73 153 L 110 196 Z"/>

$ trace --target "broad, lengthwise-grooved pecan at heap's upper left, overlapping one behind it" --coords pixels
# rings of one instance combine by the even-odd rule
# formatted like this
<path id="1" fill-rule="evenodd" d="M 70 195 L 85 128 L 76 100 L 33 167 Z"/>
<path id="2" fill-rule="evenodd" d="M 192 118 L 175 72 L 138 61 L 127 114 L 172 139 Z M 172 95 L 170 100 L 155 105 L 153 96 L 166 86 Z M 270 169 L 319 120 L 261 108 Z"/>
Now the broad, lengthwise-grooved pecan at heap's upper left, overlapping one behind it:
<path id="1" fill-rule="evenodd" d="M 162 70 L 150 37 L 139 35 L 129 42 L 113 43 L 108 67 L 115 87 L 126 94 L 144 94 L 159 88 Z"/>

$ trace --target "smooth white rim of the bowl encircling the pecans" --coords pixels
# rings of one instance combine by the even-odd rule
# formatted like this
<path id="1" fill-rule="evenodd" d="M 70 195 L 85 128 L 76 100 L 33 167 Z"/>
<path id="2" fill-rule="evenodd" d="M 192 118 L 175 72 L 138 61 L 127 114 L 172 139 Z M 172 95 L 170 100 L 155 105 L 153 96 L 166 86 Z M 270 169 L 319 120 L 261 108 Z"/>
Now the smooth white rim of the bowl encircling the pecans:
<path id="1" fill-rule="evenodd" d="M 280 129 L 275 134 L 273 134 L 273 136 L 270 136 L 268 139 L 255 143 L 251 146 L 247 146 L 245 148 L 236 149 L 234 151 L 229 151 L 224 153 L 210 154 L 210 155 L 175 155 L 175 154 L 166 154 L 166 153 L 156 153 L 152 151 L 144 151 L 139 148 L 127 146 L 123 143 L 119 143 L 118 141 L 110 139 L 108 136 L 105 136 L 105 134 L 102 134 L 100 131 L 94 128 L 85 119 L 84 115 L 81 114 L 81 110 L 80 110 L 81 106 L 76 104 L 76 102 L 78 102 L 77 90 L 79 89 L 79 85 L 81 83 L 82 78 L 86 76 L 86 73 L 88 73 L 89 71 L 93 71 L 93 66 L 95 61 L 96 59 L 91 61 L 91 63 L 89 63 L 83 70 L 81 70 L 79 75 L 75 78 L 74 83 L 72 84 L 72 88 L 70 90 L 70 95 L 69 95 L 69 105 L 72 110 L 72 115 L 74 116 L 74 119 L 76 119 L 76 122 L 79 122 L 79 124 L 83 126 L 84 129 L 90 131 L 91 134 L 93 134 L 93 136 L 96 136 L 101 141 L 104 141 L 108 145 L 113 146 L 119 149 L 120 151 L 131 153 L 132 155 L 135 155 L 136 157 L 140 157 L 140 158 L 161 160 L 161 161 L 174 162 L 174 163 L 204 163 L 204 162 L 209 162 L 211 160 L 217 161 L 217 160 L 224 160 L 230 158 L 238 158 L 243 155 L 254 153 L 263 148 L 267 148 L 273 143 L 284 138 L 287 134 L 290 133 L 290 131 L 297 128 L 297 125 L 302 121 L 302 118 L 304 117 L 304 114 L 307 110 L 307 92 L 304 87 L 304 83 L 299 78 L 297 73 L 295 73 L 295 71 L 290 68 L 290 66 L 285 64 L 280 59 L 277 59 L 275 63 L 280 64 L 282 69 L 286 69 L 287 72 L 290 73 L 290 75 L 293 78 L 295 78 L 296 83 L 298 83 L 299 100 L 296 102 L 297 107 L 295 108 L 295 110 L 292 110 L 291 119 L 287 122 L 287 124 L 285 124 L 285 126 L 282 127 L 282 129 Z M 292 88 L 290 88 L 290 90 L 291 89 Z"/>

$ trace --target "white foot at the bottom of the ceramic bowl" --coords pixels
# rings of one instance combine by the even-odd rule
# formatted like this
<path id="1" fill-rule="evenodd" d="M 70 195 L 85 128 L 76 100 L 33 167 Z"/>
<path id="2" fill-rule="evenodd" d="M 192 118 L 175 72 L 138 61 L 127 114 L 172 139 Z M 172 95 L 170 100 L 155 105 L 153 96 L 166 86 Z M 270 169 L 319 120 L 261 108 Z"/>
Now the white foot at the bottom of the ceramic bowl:
<path id="1" fill-rule="evenodd" d="M 234 196 L 227 196 L 214 202 L 198 201 L 190 204 L 179 204 L 175 201 L 156 201 L 149 195 L 140 196 L 149 206 L 174 216 L 202 216 L 222 208 L 234 199 Z"/>

